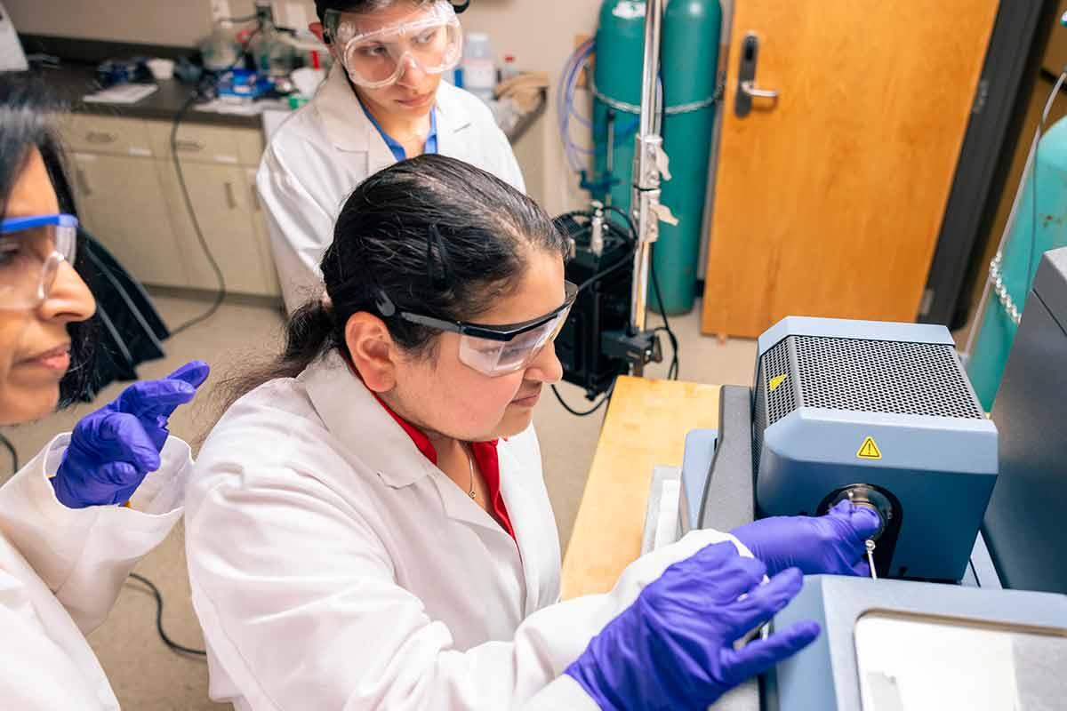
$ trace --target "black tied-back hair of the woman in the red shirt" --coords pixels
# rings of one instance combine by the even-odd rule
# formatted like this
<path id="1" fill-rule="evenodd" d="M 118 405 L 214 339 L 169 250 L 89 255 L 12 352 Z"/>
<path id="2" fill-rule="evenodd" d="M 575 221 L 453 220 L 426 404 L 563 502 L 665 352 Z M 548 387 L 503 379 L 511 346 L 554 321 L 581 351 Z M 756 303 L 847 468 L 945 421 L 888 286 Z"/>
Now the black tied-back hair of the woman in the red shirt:
<path id="1" fill-rule="evenodd" d="M 383 308 L 472 321 L 517 288 L 537 251 L 568 256 L 566 238 L 532 199 L 453 158 L 425 155 L 377 173 L 341 208 L 322 257 L 325 296 L 289 320 L 273 361 L 223 383 L 225 405 L 275 377 L 294 377 L 339 350 L 345 325 L 361 311 L 382 318 L 407 353 L 433 357 L 440 332 Z"/>

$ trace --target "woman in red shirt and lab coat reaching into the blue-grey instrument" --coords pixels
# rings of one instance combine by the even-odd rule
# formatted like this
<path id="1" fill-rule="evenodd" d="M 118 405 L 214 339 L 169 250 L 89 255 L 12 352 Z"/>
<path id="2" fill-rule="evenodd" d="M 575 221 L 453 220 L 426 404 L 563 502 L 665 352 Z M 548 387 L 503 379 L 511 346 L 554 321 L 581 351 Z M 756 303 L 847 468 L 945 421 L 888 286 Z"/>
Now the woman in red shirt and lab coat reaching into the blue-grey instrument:
<path id="1" fill-rule="evenodd" d="M 536 203 L 461 161 L 421 156 L 355 189 L 325 294 L 281 355 L 226 384 L 190 480 L 214 700 L 706 709 L 817 635 L 803 623 L 734 648 L 801 572 L 865 571 L 877 516 L 849 503 L 690 534 L 611 594 L 559 602 L 531 420 L 562 374 L 568 253 Z"/>

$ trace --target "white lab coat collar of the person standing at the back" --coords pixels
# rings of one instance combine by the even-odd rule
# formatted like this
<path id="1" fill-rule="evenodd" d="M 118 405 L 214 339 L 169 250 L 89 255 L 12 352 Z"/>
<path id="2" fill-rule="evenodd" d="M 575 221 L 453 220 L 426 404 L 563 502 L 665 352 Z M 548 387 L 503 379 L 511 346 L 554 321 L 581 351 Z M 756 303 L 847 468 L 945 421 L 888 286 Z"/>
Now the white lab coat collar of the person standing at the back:
<path id="1" fill-rule="evenodd" d="M 456 92 L 447 82 L 442 82 L 437 90 L 437 152 L 446 156 L 455 156 L 457 150 L 462 153 L 463 139 L 457 134 L 472 126 L 469 112 L 463 110 Z M 330 142 L 338 150 L 368 153 L 368 175 L 396 162 L 385 140 L 367 117 L 339 62 L 330 70 L 314 104 Z"/>

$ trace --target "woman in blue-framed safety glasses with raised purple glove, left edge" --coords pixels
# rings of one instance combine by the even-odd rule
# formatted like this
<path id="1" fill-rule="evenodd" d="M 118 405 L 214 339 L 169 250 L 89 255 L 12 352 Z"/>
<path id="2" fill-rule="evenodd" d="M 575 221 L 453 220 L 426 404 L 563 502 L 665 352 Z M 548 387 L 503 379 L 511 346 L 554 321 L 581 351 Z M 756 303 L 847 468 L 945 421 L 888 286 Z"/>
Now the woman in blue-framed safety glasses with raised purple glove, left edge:
<path id="1" fill-rule="evenodd" d="M 0 425 L 77 399 L 92 372 L 96 303 L 75 270 L 55 111 L 38 84 L 0 77 Z M 126 388 L 0 487 L 3 708 L 118 708 L 84 634 L 181 516 L 192 462 L 168 417 L 207 373 L 193 361 Z"/>

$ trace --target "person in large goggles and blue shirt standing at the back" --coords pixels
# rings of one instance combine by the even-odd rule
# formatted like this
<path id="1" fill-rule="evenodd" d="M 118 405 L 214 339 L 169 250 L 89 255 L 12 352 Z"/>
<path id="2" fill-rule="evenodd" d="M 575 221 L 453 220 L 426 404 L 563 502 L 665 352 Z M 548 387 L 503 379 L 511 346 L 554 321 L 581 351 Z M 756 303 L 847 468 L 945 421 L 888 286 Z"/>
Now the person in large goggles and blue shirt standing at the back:
<path id="1" fill-rule="evenodd" d="M 317 0 L 310 30 L 334 59 L 307 106 L 278 128 L 256 175 L 286 308 L 322 290 L 319 260 L 345 197 L 407 158 L 441 153 L 525 190 L 480 99 L 443 82 L 463 54 L 447 0 Z"/>

